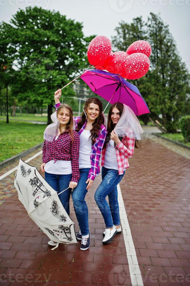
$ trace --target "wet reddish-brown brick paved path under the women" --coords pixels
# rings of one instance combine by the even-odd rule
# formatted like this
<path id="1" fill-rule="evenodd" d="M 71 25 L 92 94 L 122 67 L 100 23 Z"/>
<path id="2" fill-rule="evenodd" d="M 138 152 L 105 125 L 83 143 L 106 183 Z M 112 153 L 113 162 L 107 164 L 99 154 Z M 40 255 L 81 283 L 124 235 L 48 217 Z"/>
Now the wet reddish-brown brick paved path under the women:
<path id="1" fill-rule="evenodd" d="M 189 162 L 147 140 L 129 159 L 120 184 L 145 286 L 190 284 Z M 41 155 L 29 164 L 39 169 Z M 100 175 L 87 194 L 91 247 L 85 252 L 79 243 L 61 244 L 54 251 L 48 247 L 47 236 L 18 201 L 14 175 L 0 181 L 1 285 L 131 285 L 123 234 L 102 246 L 105 225 L 94 202 Z M 73 207 L 71 218 L 76 222 Z"/>

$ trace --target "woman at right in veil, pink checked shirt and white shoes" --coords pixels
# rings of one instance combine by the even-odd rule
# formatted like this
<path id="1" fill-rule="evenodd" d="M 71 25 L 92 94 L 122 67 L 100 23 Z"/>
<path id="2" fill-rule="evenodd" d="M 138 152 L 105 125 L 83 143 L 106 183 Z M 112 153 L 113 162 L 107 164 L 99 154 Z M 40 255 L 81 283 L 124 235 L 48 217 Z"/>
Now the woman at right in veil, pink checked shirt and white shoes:
<path id="1" fill-rule="evenodd" d="M 139 133 L 143 133 L 134 112 L 120 102 L 110 108 L 107 130 L 108 136 L 102 151 L 102 182 L 94 195 L 105 221 L 103 244 L 121 233 L 117 184 L 122 180 L 126 168 L 129 168 L 128 158 L 133 156 L 134 147 L 140 147 L 136 139 L 140 139 Z M 109 204 L 105 199 L 107 196 Z"/>

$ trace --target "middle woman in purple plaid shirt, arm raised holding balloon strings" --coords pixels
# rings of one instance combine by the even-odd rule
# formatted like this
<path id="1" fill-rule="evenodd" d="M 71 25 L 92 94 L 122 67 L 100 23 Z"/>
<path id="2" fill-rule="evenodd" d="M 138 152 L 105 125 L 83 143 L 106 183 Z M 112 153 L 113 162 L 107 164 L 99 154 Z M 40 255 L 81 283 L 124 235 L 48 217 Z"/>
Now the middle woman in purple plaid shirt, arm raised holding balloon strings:
<path id="1" fill-rule="evenodd" d="M 61 90 L 55 95 L 55 108 L 59 107 Z M 75 214 L 80 230 L 77 239 L 81 240 L 81 250 L 90 246 L 90 233 L 88 224 L 88 207 L 85 196 L 92 186 L 95 177 L 100 173 L 99 160 L 107 136 L 102 113 L 102 103 L 97 98 L 89 98 L 85 102 L 82 117 L 74 117 L 75 131 L 80 136 L 78 185 L 72 192 Z"/>

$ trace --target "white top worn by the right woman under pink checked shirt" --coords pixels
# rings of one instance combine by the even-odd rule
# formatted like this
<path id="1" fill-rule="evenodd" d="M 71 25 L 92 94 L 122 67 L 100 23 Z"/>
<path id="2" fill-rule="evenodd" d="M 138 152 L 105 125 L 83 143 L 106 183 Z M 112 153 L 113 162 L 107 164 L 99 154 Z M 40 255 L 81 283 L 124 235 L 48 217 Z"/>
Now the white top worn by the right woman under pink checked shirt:
<path id="1" fill-rule="evenodd" d="M 118 170 L 118 162 L 114 141 L 110 139 L 105 151 L 104 167 L 108 169 Z"/>

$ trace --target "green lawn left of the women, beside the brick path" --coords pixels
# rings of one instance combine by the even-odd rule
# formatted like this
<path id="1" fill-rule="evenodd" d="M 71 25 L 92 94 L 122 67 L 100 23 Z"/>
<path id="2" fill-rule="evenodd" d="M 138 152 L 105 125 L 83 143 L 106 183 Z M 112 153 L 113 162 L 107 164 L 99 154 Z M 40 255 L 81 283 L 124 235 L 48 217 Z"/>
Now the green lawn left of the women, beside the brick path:
<path id="1" fill-rule="evenodd" d="M 0 161 L 43 142 L 46 125 L 30 122 L 0 121 Z"/>

